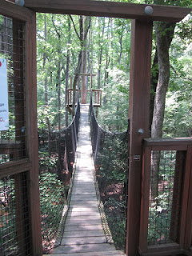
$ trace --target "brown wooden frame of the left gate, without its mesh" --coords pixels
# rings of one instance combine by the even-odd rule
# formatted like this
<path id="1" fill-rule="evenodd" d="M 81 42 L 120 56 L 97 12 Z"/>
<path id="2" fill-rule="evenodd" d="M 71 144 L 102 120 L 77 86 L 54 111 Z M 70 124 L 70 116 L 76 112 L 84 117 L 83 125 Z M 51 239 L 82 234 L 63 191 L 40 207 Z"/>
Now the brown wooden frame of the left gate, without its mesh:
<path id="1" fill-rule="evenodd" d="M 38 127 L 36 82 L 36 14 L 32 10 L 0 0 L 0 14 L 24 22 L 26 77 L 26 158 L 0 166 L 0 177 L 27 172 L 30 208 L 31 248 L 33 255 L 42 255 L 40 203 L 38 190 Z"/>

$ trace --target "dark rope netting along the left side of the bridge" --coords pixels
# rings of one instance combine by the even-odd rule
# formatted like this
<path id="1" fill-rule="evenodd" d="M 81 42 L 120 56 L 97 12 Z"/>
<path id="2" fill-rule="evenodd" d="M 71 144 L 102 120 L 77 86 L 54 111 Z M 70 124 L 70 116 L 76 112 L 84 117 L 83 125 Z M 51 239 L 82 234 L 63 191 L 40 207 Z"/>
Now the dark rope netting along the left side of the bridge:
<path id="1" fill-rule="evenodd" d="M 61 132 L 38 130 L 42 246 L 48 252 L 62 229 L 78 141 L 80 105 L 70 126 Z M 59 239 L 58 239 L 59 240 Z M 57 241 L 59 243 L 59 241 Z"/>

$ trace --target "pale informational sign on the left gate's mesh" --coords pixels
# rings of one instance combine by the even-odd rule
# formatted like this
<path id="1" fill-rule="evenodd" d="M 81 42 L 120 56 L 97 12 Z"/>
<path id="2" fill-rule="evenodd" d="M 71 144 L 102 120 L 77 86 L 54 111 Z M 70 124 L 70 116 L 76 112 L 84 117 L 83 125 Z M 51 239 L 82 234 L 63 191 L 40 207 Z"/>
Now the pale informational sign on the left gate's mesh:
<path id="1" fill-rule="evenodd" d="M 6 59 L 0 58 L 0 130 L 9 129 Z"/>

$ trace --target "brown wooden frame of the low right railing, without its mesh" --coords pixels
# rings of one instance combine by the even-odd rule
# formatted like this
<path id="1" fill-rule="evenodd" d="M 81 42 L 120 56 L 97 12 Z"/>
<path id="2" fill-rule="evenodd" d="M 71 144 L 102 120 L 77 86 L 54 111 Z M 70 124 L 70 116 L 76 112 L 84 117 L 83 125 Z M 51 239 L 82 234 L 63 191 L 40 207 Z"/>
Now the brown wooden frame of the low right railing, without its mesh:
<path id="1" fill-rule="evenodd" d="M 153 150 L 177 150 L 176 166 L 178 166 L 178 178 L 174 181 L 174 191 L 178 194 L 177 204 L 172 206 L 171 222 L 179 222 L 180 225 L 170 230 L 170 235 L 176 238 L 178 243 L 148 246 L 148 216 L 150 203 L 150 160 Z M 192 237 L 192 207 L 191 207 L 191 176 L 192 176 L 192 139 L 190 138 L 167 138 L 145 139 L 143 145 L 143 168 L 142 168 L 142 203 L 139 250 L 142 255 L 175 255 L 189 254 Z M 185 184 L 185 186 L 183 186 Z M 174 194 L 173 194 L 174 196 Z M 182 212 L 179 214 L 178 205 Z M 173 214 L 177 212 L 177 214 Z M 179 216 L 179 220 L 178 220 Z"/>

